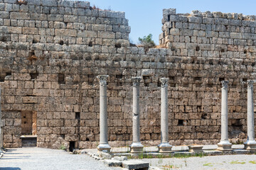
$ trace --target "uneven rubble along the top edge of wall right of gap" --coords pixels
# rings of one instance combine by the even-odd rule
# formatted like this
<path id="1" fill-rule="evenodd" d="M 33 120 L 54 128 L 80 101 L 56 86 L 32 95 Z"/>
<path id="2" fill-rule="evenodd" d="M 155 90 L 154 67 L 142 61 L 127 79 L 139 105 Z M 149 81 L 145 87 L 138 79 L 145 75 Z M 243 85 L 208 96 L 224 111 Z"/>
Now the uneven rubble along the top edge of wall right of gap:
<path id="1" fill-rule="evenodd" d="M 222 12 L 201 12 L 198 10 L 191 11 L 191 13 L 176 13 L 176 8 L 164 8 L 163 15 L 178 15 L 178 16 L 198 16 L 198 17 L 208 17 L 208 18 L 228 18 L 235 20 L 246 20 L 246 21 L 256 21 L 255 15 L 243 15 L 242 13 L 222 13 Z"/>

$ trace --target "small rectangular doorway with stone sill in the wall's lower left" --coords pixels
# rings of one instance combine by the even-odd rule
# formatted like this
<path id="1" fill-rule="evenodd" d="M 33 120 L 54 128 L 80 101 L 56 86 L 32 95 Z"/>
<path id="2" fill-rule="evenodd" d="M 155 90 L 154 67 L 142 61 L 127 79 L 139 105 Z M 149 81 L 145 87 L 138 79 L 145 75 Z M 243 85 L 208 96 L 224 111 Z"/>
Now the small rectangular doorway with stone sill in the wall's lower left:
<path id="1" fill-rule="evenodd" d="M 22 147 L 36 147 L 36 111 L 21 111 Z"/>

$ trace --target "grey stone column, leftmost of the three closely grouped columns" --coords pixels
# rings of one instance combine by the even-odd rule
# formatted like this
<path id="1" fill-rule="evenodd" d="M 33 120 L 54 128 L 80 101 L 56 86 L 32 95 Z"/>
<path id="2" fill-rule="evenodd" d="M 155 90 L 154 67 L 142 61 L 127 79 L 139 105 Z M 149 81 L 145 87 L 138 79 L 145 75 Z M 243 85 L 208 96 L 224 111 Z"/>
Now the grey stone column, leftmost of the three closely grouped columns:
<path id="1" fill-rule="evenodd" d="M 107 75 L 97 76 L 100 79 L 100 145 L 97 149 L 102 152 L 110 152 L 107 140 Z"/>

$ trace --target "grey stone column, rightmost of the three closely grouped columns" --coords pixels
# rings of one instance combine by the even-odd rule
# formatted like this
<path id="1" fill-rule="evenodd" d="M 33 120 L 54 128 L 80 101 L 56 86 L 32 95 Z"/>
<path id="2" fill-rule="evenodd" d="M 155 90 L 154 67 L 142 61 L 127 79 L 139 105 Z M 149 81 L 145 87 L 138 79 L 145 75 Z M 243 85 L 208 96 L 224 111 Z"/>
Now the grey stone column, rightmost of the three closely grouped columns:
<path id="1" fill-rule="evenodd" d="M 159 152 L 171 152 L 168 126 L 168 78 L 161 78 L 161 144 Z"/>

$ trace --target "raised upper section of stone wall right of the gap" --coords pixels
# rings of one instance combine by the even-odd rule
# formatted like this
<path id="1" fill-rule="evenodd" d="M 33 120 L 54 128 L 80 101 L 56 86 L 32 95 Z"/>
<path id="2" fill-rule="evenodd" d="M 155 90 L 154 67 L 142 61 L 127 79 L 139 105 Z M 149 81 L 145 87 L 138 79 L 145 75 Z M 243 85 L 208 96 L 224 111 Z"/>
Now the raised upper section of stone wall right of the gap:
<path id="1" fill-rule="evenodd" d="M 242 13 L 176 13 L 163 10 L 160 45 L 176 56 L 252 58 L 256 52 L 256 16 Z"/>

